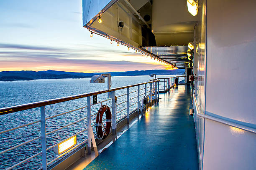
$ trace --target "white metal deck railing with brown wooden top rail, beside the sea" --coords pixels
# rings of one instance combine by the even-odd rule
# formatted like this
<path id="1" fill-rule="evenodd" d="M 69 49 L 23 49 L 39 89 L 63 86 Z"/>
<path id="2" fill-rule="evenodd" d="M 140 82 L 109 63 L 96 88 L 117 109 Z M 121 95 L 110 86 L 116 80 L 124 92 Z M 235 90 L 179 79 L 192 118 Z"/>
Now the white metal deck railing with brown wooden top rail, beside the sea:
<path id="1" fill-rule="evenodd" d="M 87 140 L 90 137 L 90 135 L 94 135 L 94 136 L 96 135 L 95 131 L 94 131 L 94 134 L 90 134 L 89 131 L 88 131 L 90 127 L 95 126 L 95 124 L 91 123 L 91 120 L 95 120 L 95 115 L 97 115 L 97 112 L 95 114 L 91 114 L 91 108 L 94 105 L 95 106 L 102 105 L 103 102 L 109 102 L 110 105 L 112 105 L 110 107 L 110 109 L 112 109 L 112 120 L 111 120 L 111 122 L 112 122 L 111 126 L 112 127 L 111 127 L 111 129 L 112 129 L 112 133 L 115 133 L 116 124 L 117 124 L 117 121 L 118 121 L 118 119 L 117 119 L 118 115 L 117 114 L 120 115 L 119 117 L 123 117 L 122 114 L 125 114 L 126 117 L 127 117 L 127 122 L 129 123 L 129 116 L 131 114 L 131 111 L 133 112 L 134 110 L 138 110 L 138 111 L 140 110 L 141 101 L 143 100 L 144 96 L 149 97 L 150 102 L 152 102 L 153 98 L 154 99 L 159 99 L 159 82 L 160 82 L 160 80 L 154 80 L 154 81 L 151 81 L 151 82 L 144 82 L 144 83 L 140 83 L 140 84 L 136 84 L 136 85 L 118 87 L 118 88 L 114 88 L 114 89 L 111 89 L 111 90 L 102 90 L 102 91 L 98 91 L 98 92 L 90 92 L 90 93 L 85 93 L 85 94 L 81 94 L 81 95 L 74 95 L 74 96 L 62 97 L 62 98 L 58 98 L 58 99 L 52 99 L 52 100 L 46 100 L 46 101 L 41 101 L 41 102 L 29 103 L 29 104 L 25 104 L 25 105 L 18 105 L 18 106 L 13 106 L 13 107 L 1 108 L 0 109 L 0 115 L 6 115 L 8 113 L 18 112 L 18 111 L 23 111 L 23 110 L 30 110 L 30 109 L 33 109 L 33 108 L 40 108 L 40 120 L 29 122 L 29 123 L 26 123 L 24 125 L 20 125 L 20 126 L 10 128 L 10 129 L 7 129 L 7 130 L 3 130 L 3 131 L 0 132 L 0 134 L 10 133 L 11 131 L 13 132 L 14 130 L 24 128 L 24 127 L 29 127 L 33 124 L 36 124 L 36 123 L 40 122 L 40 132 L 41 132 L 41 134 L 39 136 L 37 136 L 36 138 L 26 140 L 22 143 L 19 143 L 18 145 L 13 145 L 13 146 L 10 146 L 10 147 L 5 148 L 5 149 L 1 148 L 0 156 L 12 152 L 15 148 L 19 148 L 23 145 L 29 144 L 31 142 L 35 142 L 36 140 L 39 140 L 39 139 L 41 139 L 41 151 L 37 152 L 37 153 L 36 153 L 36 151 L 31 152 L 31 155 L 27 156 L 27 158 L 24 157 L 24 159 L 21 160 L 20 162 L 13 163 L 14 165 L 11 165 L 10 167 L 5 168 L 5 169 L 10 170 L 10 169 L 13 169 L 15 167 L 18 168 L 18 166 L 19 166 L 19 168 L 23 168 L 21 166 L 24 163 L 26 163 L 28 160 L 31 160 L 32 158 L 37 158 L 39 155 L 41 155 L 41 157 L 42 157 L 41 158 L 41 167 L 38 167 L 38 170 L 39 169 L 46 170 L 47 167 L 49 167 L 49 165 L 53 164 L 54 162 L 59 160 L 64 155 L 67 155 L 68 153 L 70 153 L 75 148 L 77 148 L 79 146 L 82 146 L 85 143 L 87 143 Z M 130 92 L 130 90 L 133 87 L 137 87 L 137 89 Z M 143 88 L 140 88 L 140 87 L 143 87 Z M 123 90 L 123 89 L 127 89 L 127 90 L 125 90 L 126 91 L 125 94 L 115 96 L 115 92 L 117 94 L 118 90 Z M 92 99 L 91 96 L 100 95 L 100 94 L 107 94 L 108 92 L 110 92 L 110 98 L 102 100 L 102 101 L 97 102 L 95 104 L 91 104 L 91 99 Z M 85 98 L 85 97 L 87 97 L 87 105 L 84 105 L 82 107 L 79 107 L 79 108 L 76 108 L 76 109 L 73 109 L 73 110 L 69 110 L 69 111 L 66 111 L 66 112 L 58 113 L 56 115 L 46 117 L 46 107 L 45 107 L 46 105 L 53 105 L 53 104 L 56 104 L 56 103 L 66 102 L 66 101 L 69 101 L 69 100 L 77 100 L 77 99 L 81 99 L 81 98 Z M 117 98 L 117 100 L 115 100 L 116 98 Z M 119 99 L 120 99 L 120 102 L 118 102 Z M 130 105 L 130 101 L 134 102 L 134 103 L 132 103 Z M 137 104 L 137 108 L 135 106 L 136 104 Z M 141 107 L 143 107 L 143 105 Z M 85 108 L 87 108 L 87 116 L 86 117 L 80 117 L 79 120 L 69 122 L 67 125 L 64 125 L 64 126 L 56 128 L 54 130 L 51 130 L 49 132 L 46 132 L 46 128 L 48 128 L 46 126 L 47 121 L 52 120 L 53 118 L 58 118 L 60 116 L 67 115 L 68 113 L 73 113 L 77 110 L 83 110 Z M 103 120 L 105 120 L 105 119 L 106 118 L 103 117 Z M 65 128 L 71 127 L 74 124 L 78 124 L 78 123 L 81 123 L 81 122 L 84 122 L 84 121 L 87 121 L 86 122 L 87 125 L 85 126 L 86 128 L 84 128 L 82 130 L 77 130 L 77 132 L 73 133 L 72 135 L 65 136 L 64 138 L 60 138 L 59 136 L 54 135 L 56 132 L 60 132 L 61 130 L 65 129 Z M 81 126 L 84 126 L 84 124 L 82 124 Z M 85 133 L 85 134 L 83 134 L 83 133 Z M 57 157 L 54 158 L 54 159 L 47 157 L 49 152 L 54 152 L 51 149 L 53 149 L 54 147 L 56 147 L 57 145 L 62 143 L 64 140 L 69 139 L 71 137 L 74 137 L 76 135 L 81 135 L 81 134 L 84 135 L 83 138 L 80 139 L 79 142 L 76 145 L 72 146 L 72 148 L 69 148 L 64 153 L 61 153 L 61 155 L 57 155 Z M 57 138 L 56 140 L 58 142 L 51 143 L 51 144 L 47 143 L 46 138 L 48 140 L 50 138 L 48 136 L 51 136 L 51 135 L 53 135 L 55 139 Z M 87 135 L 87 136 L 85 136 L 85 135 Z M 2 136 L 0 136 L 0 140 L 2 142 L 4 142 L 4 139 L 2 139 L 1 137 Z M 59 137 L 59 140 L 58 140 L 58 137 Z M 46 144 L 48 144 L 48 145 L 46 145 Z M 88 148 L 90 148 L 90 143 L 88 143 L 87 145 L 88 145 Z M 20 150 L 22 150 L 22 148 L 20 148 Z M 39 160 L 39 158 L 37 158 L 37 159 Z M 8 163 L 8 165 L 10 165 L 10 163 Z M 35 167 L 33 167 L 33 168 L 35 168 Z"/>

